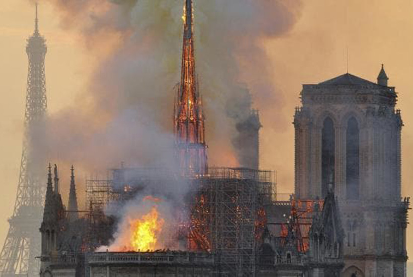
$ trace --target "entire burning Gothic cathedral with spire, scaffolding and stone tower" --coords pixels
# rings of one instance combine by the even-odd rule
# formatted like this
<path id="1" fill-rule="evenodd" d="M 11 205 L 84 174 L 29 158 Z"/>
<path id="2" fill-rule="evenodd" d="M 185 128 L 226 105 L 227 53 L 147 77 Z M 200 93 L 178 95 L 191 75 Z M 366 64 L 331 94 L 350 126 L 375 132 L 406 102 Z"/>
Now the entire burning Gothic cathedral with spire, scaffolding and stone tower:
<path id="1" fill-rule="evenodd" d="M 377 84 L 345 74 L 303 86 L 294 115 L 295 194 L 281 200 L 275 173 L 258 169 L 256 111 L 240 126 L 250 168 L 208 166 L 192 13 L 185 0 L 176 167 L 122 166 L 87 180 L 80 211 L 74 168 L 65 206 L 57 166 L 49 165 L 40 275 L 406 276 L 402 121 L 384 68 Z M 165 184 L 186 188 L 167 211 L 162 202 L 173 196 Z M 140 214 L 108 212 L 124 206 Z"/>

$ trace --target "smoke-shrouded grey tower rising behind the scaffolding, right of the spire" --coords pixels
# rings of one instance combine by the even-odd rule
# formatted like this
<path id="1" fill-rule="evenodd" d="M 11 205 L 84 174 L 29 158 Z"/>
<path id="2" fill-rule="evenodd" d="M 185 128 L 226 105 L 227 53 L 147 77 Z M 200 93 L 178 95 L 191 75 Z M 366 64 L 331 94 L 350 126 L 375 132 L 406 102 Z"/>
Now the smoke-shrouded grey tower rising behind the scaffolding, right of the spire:
<path id="1" fill-rule="evenodd" d="M 242 122 L 238 122 L 238 135 L 234 140 L 238 161 L 241 167 L 258 170 L 259 168 L 259 129 L 262 127 L 257 110 Z"/>

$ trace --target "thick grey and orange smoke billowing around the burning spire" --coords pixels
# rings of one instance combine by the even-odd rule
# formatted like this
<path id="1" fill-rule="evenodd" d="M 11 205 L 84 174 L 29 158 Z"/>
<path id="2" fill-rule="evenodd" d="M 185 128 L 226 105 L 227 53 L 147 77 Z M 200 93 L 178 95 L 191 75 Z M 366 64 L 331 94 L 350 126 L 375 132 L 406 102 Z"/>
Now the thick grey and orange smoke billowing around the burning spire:
<path id="1" fill-rule="evenodd" d="M 172 161 L 172 112 L 179 82 L 183 0 L 43 0 L 64 28 L 82 34 L 100 62 L 76 106 L 51 115 L 40 146 L 87 171 Z M 252 93 L 276 117 L 283 99 L 267 62 L 266 39 L 286 34 L 300 0 L 195 0 L 196 66 L 210 164 L 236 165 L 231 138 Z M 52 68 L 48 68 L 52 70 Z M 57 93 L 57 92 L 53 92 Z M 236 117 L 229 116 L 236 110 Z M 245 110 L 243 110 L 245 109 Z M 235 120 L 234 120 L 235 119 Z"/>

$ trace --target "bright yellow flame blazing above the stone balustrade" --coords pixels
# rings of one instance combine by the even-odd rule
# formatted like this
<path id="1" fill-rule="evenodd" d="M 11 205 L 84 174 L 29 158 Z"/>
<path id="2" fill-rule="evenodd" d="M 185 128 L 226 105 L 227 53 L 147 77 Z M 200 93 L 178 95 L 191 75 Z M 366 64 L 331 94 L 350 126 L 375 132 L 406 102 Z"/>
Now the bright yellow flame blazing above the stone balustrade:
<path id="1" fill-rule="evenodd" d="M 156 206 L 151 212 L 142 216 L 141 219 L 133 220 L 130 223 L 131 237 L 130 246 L 132 251 L 153 251 L 155 250 L 158 236 L 162 231 L 164 219 L 159 217 Z"/>

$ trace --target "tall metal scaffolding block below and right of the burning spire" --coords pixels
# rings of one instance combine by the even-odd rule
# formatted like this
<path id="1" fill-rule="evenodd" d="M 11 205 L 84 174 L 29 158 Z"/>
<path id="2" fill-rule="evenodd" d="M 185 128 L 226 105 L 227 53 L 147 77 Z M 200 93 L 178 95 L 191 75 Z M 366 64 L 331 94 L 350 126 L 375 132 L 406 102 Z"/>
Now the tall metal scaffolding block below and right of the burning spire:
<path id="1" fill-rule="evenodd" d="M 272 202 L 275 182 L 273 171 L 244 168 L 209 168 L 194 180 L 189 241 L 215 254 L 216 275 L 255 275 L 260 211 Z"/>

